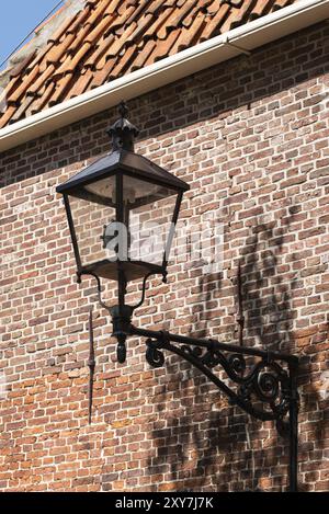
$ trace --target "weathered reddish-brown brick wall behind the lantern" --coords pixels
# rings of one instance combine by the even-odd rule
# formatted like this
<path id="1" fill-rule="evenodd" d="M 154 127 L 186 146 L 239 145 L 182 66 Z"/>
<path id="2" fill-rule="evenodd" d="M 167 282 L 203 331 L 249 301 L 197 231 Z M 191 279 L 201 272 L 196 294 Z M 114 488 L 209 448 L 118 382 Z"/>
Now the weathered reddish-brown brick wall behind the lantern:
<path id="1" fill-rule="evenodd" d="M 246 344 L 300 356 L 305 491 L 328 490 L 329 473 L 328 35 L 328 24 L 310 27 L 131 102 L 144 128 L 137 151 L 191 184 L 180 222 L 197 226 L 216 213 L 224 226 L 223 271 L 173 260 L 169 283 L 151 282 L 136 324 L 236 342 L 240 262 Z M 272 422 L 230 407 L 174 356 L 150 369 L 143 341 L 129 340 L 118 365 L 93 282 L 75 283 L 55 187 L 109 150 L 104 129 L 114 117 L 103 113 L 0 157 L 0 489 L 282 491 L 287 446 Z"/>

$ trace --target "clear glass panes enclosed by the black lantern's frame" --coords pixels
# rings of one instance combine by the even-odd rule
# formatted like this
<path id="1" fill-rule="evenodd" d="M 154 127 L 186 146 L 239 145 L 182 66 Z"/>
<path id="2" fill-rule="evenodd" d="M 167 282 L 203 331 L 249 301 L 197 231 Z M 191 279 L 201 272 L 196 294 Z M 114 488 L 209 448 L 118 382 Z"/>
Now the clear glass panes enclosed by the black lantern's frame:
<path id="1" fill-rule="evenodd" d="M 82 269 L 116 279 L 120 260 L 127 279 L 145 276 L 154 265 L 161 272 L 177 191 L 124 174 L 120 224 L 115 185 L 116 175 L 112 175 L 76 189 L 70 196 Z"/>

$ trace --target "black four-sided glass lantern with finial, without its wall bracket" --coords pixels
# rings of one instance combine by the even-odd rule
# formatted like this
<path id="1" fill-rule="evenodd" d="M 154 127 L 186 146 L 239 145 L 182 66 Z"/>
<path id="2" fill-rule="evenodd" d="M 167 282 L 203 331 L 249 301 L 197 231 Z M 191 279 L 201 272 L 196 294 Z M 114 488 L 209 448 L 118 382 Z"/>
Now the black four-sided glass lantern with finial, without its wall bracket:
<path id="1" fill-rule="evenodd" d="M 107 130 L 112 152 L 57 187 L 64 195 L 78 277 L 90 274 L 118 284 L 118 306 L 111 309 L 118 341 L 125 339 L 120 327 L 133 310 L 125 305 L 127 283 L 143 278 L 144 296 L 149 275 L 161 274 L 166 281 L 182 195 L 190 189 L 134 152 L 138 129 L 127 121 L 124 103 L 120 114 Z M 123 362 L 125 350 L 120 346 Z"/>

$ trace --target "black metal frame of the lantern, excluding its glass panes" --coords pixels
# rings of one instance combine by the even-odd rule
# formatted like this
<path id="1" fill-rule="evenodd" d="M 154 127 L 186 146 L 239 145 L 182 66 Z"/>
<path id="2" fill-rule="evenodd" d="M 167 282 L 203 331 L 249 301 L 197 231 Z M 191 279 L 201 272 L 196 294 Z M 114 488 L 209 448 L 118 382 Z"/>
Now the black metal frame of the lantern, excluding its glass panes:
<path id="1" fill-rule="evenodd" d="M 120 363 L 124 363 L 126 359 L 126 334 L 121 330 L 121 324 L 125 324 L 126 320 L 131 319 L 133 311 L 144 301 L 146 283 L 150 275 L 160 274 L 162 275 L 163 282 L 167 281 L 168 255 L 172 245 L 174 227 L 178 221 L 183 193 L 188 191 L 190 186 L 182 180 L 170 174 L 167 170 L 163 170 L 145 157 L 134 152 L 134 139 L 138 135 L 138 129 L 126 118 L 127 108 L 124 103 L 120 106 L 120 119 L 117 119 L 107 130 L 107 134 L 112 137 L 112 152 L 105 156 L 105 158 L 102 158 L 87 167 L 77 175 L 69 179 L 66 183 L 60 184 L 57 187 L 57 192 L 64 195 L 64 204 L 77 262 L 78 282 L 81 282 L 82 275 L 94 276 L 98 281 L 99 296 L 101 292 L 100 277 L 113 278 L 117 282 L 118 305 L 109 310 L 113 318 L 114 335 L 118 342 L 117 359 Z M 110 201 L 106 197 L 100 196 L 95 192 L 90 190 L 88 191 L 88 186 L 100 183 L 100 181 L 104 181 L 105 179 L 114 179 L 115 203 L 113 203 L 113 198 Z M 79 251 L 69 197 L 73 196 L 100 205 L 110 205 L 115 209 L 115 224 L 126 225 L 127 220 L 125 219 L 126 214 L 124 212 L 124 180 L 127 179 L 133 181 L 143 181 L 145 184 L 151 184 L 152 186 L 159 187 L 159 191 L 167 191 L 167 194 L 164 194 L 163 197 L 175 195 L 170 230 L 167 235 L 161 264 L 131 260 L 128 256 L 124 261 L 117 258 L 115 265 L 107 262 L 106 259 L 84 265 Z M 146 197 L 144 199 L 141 198 L 139 203 L 136 201 L 136 205 L 137 207 L 149 205 L 156 199 L 157 195 L 154 193 L 150 197 L 146 195 Z M 103 240 L 103 248 L 105 248 L 107 242 L 106 226 L 104 226 L 103 236 L 100 236 L 100 239 Z M 137 277 L 143 278 L 141 302 L 137 306 L 127 306 L 125 304 L 126 286 L 129 279 L 134 279 L 136 277 L 134 276 L 134 273 L 131 273 L 131 275 L 133 275 L 132 278 L 128 273 L 129 269 L 133 266 L 134 269 L 137 269 Z M 114 267 L 115 271 L 113 271 Z M 101 305 L 104 307 L 102 301 Z"/>

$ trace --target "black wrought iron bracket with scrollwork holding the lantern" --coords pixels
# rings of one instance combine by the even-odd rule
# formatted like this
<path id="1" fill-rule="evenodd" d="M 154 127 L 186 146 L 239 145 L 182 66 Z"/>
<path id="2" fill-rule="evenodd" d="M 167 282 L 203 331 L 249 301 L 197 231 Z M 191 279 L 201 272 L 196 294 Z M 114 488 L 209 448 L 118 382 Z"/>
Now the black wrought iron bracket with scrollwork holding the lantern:
<path id="1" fill-rule="evenodd" d="M 166 351 L 179 355 L 224 392 L 231 406 L 239 407 L 254 419 L 274 421 L 279 434 L 288 437 L 288 490 L 297 491 L 296 356 L 134 325 L 131 325 L 128 335 L 146 338 L 146 359 L 150 366 L 161 367 L 166 362 Z"/>

